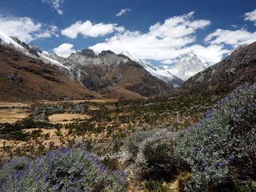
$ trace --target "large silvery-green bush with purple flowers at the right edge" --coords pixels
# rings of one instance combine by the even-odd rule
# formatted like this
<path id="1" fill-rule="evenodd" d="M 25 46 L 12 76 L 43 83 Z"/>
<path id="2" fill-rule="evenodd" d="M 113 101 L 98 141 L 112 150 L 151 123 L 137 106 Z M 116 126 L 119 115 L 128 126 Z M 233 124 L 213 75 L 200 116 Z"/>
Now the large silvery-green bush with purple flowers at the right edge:
<path id="1" fill-rule="evenodd" d="M 256 84 L 239 86 L 181 132 L 174 154 L 194 173 L 186 191 L 203 191 L 233 174 L 256 178 L 255 99 Z"/>

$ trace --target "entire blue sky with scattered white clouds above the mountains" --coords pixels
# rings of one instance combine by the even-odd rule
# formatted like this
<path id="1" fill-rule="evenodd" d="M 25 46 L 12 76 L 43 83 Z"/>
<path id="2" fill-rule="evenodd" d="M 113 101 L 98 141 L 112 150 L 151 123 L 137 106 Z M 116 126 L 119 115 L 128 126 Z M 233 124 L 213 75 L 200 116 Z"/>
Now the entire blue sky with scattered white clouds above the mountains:
<path id="1" fill-rule="evenodd" d="M 0 30 L 63 57 L 128 50 L 159 65 L 194 52 L 215 63 L 256 41 L 256 1 L 1 0 Z"/>

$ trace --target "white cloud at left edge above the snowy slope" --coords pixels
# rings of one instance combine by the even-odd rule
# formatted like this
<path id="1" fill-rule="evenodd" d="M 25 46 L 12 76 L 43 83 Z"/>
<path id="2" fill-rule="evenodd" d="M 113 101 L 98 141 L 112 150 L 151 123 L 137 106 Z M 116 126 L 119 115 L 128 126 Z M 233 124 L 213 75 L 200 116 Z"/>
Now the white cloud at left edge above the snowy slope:
<path id="1" fill-rule="evenodd" d="M 26 43 L 38 38 L 50 38 L 52 35 L 58 37 L 57 26 L 46 26 L 34 22 L 32 18 L 10 18 L 0 14 L 0 29 Z"/>

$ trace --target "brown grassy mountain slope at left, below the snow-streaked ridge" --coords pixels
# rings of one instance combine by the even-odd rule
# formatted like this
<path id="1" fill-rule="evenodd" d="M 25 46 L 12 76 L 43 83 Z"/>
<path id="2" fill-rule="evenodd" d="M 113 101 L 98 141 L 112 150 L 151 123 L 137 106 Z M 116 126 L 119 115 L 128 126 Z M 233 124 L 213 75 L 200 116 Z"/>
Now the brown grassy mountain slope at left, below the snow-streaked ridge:
<path id="1" fill-rule="evenodd" d="M 0 44 L 0 101 L 65 100 L 96 96 L 41 60 Z"/>

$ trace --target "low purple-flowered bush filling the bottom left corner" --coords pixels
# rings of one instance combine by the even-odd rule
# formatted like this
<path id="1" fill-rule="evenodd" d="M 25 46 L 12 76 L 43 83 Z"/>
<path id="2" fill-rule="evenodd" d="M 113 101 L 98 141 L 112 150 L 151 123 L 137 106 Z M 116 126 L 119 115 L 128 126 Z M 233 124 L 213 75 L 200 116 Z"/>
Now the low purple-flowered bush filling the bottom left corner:
<path id="1" fill-rule="evenodd" d="M 0 182 L 0 191 L 126 191 L 126 176 L 84 146 L 60 147 Z"/>

